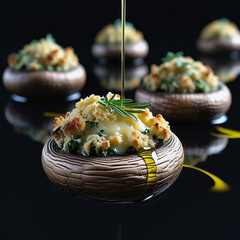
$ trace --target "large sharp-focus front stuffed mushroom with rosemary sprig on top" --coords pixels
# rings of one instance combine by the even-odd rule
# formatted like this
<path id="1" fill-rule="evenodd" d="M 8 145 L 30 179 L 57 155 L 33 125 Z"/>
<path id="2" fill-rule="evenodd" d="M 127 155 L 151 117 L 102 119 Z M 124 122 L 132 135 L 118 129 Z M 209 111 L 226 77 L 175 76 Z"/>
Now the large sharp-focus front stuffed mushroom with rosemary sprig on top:
<path id="1" fill-rule="evenodd" d="M 116 94 L 91 95 L 55 118 L 53 138 L 42 152 L 54 183 L 80 196 L 115 201 L 143 198 L 176 180 L 184 156 L 168 122 L 161 114 L 154 117 L 148 105 L 130 99 L 121 104 Z"/>

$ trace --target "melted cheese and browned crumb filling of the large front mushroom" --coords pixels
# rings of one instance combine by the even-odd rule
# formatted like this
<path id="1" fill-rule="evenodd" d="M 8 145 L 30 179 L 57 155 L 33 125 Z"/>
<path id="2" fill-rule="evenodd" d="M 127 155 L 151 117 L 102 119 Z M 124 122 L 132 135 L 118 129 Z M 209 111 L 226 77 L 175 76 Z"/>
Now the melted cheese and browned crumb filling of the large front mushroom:
<path id="1" fill-rule="evenodd" d="M 108 99 L 113 94 L 107 95 Z M 98 103 L 100 96 L 91 95 L 76 104 L 65 118 L 55 118 L 52 135 L 60 149 L 87 156 L 125 155 L 167 141 L 171 131 L 162 115 L 153 117 L 149 109 L 123 118 Z M 119 99 L 119 96 L 115 96 Z"/>

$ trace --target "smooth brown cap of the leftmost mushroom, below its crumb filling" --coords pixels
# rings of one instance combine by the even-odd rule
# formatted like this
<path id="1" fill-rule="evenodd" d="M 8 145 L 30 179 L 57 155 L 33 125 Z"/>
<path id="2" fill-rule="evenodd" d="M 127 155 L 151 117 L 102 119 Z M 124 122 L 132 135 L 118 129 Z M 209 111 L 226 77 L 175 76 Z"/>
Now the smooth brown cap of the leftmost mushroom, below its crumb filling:
<path id="1" fill-rule="evenodd" d="M 3 84 L 8 91 L 31 99 L 64 97 L 79 91 L 85 81 L 82 65 L 66 72 L 18 71 L 8 67 L 3 73 Z"/>

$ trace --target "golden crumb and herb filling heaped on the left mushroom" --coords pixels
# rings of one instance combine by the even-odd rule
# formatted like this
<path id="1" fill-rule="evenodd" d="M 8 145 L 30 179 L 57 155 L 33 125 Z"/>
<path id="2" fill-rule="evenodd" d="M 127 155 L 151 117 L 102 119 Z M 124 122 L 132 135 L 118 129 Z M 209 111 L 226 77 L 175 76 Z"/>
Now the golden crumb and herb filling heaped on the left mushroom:
<path id="1" fill-rule="evenodd" d="M 32 40 L 18 53 L 8 56 L 12 69 L 23 71 L 66 72 L 79 65 L 72 47 L 58 45 L 51 34 L 40 40 Z"/>

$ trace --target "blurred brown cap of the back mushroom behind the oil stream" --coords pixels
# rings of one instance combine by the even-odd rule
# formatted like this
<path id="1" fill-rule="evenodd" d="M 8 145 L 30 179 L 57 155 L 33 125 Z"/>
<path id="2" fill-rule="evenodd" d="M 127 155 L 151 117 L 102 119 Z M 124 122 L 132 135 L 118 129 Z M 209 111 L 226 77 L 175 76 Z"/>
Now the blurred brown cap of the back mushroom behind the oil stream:
<path id="1" fill-rule="evenodd" d="M 126 59 L 145 58 L 148 50 L 148 43 L 145 40 L 126 44 L 125 57 Z M 121 45 L 105 46 L 94 43 L 92 46 L 92 54 L 95 58 L 118 59 L 121 56 Z"/>

